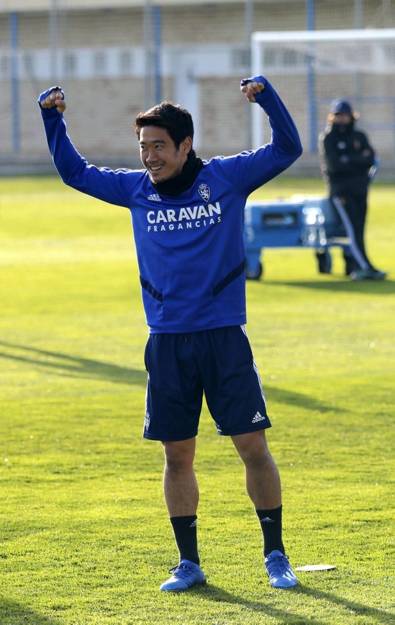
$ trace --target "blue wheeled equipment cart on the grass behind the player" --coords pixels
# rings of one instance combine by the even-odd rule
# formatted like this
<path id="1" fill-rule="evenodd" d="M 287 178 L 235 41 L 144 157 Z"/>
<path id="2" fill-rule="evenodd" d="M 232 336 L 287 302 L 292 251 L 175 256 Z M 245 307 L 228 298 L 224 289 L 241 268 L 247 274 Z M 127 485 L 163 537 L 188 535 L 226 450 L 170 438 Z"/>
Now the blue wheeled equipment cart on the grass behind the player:
<path id="1" fill-rule="evenodd" d="M 264 247 L 346 247 L 346 236 L 328 197 L 301 197 L 249 201 L 244 212 L 246 277 L 258 280 Z"/>

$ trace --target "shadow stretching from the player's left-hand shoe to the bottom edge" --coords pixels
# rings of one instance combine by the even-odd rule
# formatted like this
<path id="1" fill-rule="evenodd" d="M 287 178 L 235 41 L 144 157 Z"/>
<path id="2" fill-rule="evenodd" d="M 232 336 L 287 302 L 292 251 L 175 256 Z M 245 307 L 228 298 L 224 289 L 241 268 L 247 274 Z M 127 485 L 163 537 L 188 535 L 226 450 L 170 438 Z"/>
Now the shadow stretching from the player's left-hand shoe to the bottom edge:
<path id="1" fill-rule="evenodd" d="M 214 586 L 213 584 L 207 584 L 207 586 L 202 586 L 199 588 L 194 588 L 192 591 L 200 596 L 207 597 L 210 601 L 217 601 L 221 604 L 229 603 L 229 604 L 237 604 L 239 606 L 244 606 L 249 612 L 257 612 L 261 614 L 261 616 L 271 616 L 276 619 L 276 622 L 283 622 L 286 625 L 327 625 L 327 621 L 321 621 L 321 619 L 316 619 L 314 617 L 307 618 L 306 616 L 301 616 L 296 614 L 295 612 L 290 612 L 287 610 L 281 610 L 278 607 L 273 607 L 269 605 L 266 601 L 247 601 L 245 597 L 239 596 L 237 594 L 231 594 L 231 592 L 226 592 L 222 590 L 219 586 Z M 295 592 L 295 589 L 288 589 L 286 591 L 280 592 Z M 278 604 L 277 604 L 278 605 Z M 246 617 L 246 622 L 247 617 Z"/>

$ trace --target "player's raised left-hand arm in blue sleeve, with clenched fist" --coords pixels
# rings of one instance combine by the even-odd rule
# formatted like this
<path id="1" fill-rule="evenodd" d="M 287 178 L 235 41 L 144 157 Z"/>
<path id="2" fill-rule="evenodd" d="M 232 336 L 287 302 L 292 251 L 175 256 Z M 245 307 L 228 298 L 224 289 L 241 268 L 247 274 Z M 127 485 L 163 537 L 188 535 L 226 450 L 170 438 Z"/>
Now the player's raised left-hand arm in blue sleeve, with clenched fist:
<path id="1" fill-rule="evenodd" d="M 129 207 L 139 172 L 113 171 L 88 165 L 78 153 L 66 131 L 63 112 L 64 93 L 59 87 L 48 89 L 38 100 L 49 151 L 59 176 L 65 184 L 110 204 Z"/>

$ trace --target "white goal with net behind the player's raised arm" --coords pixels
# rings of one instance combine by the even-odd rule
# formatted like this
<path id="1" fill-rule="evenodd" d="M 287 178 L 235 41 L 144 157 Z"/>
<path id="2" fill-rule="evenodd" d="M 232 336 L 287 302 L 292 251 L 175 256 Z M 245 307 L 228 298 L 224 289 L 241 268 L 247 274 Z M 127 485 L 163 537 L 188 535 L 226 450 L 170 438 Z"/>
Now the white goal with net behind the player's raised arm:
<path id="1" fill-rule="evenodd" d="M 380 155 L 395 151 L 395 29 L 254 32 L 252 76 L 272 82 L 294 118 L 304 158 L 317 158 L 317 138 L 329 104 L 344 98 L 360 111 L 362 126 Z M 258 107 L 252 142 L 270 139 Z"/>

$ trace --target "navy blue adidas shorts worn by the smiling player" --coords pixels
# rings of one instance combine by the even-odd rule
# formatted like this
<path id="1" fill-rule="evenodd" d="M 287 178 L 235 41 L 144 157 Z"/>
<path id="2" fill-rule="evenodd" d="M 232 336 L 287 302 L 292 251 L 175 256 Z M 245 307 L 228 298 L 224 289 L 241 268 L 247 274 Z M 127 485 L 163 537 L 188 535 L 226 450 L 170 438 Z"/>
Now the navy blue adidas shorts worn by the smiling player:
<path id="1" fill-rule="evenodd" d="M 185 441 L 197 434 L 203 392 L 218 434 L 270 427 L 244 326 L 150 334 L 144 438 Z"/>

